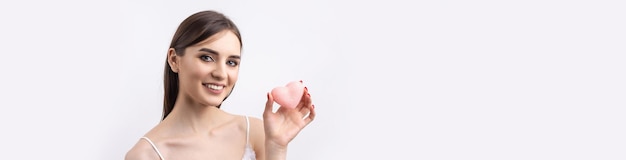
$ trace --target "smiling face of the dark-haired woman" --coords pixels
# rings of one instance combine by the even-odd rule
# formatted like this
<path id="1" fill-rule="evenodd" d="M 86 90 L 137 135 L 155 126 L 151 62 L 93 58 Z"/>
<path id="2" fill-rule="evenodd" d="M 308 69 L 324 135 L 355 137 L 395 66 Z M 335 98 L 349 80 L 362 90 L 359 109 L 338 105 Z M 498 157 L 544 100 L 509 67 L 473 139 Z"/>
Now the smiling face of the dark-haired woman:
<path id="1" fill-rule="evenodd" d="M 179 98 L 217 106 L 232 91 L 239 74 L 241 45 L 232 31 L 219 32 L 177 56 Z"/>

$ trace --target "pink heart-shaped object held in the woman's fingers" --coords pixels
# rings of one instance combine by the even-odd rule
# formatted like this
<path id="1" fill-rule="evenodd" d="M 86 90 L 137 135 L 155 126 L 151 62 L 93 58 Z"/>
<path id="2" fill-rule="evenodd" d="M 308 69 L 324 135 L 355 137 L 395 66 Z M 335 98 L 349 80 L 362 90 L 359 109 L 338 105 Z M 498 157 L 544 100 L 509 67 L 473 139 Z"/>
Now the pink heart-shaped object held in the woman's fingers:
<path id="1" fill-rule="evenodd" d="M 296 108 L 302 94 L 304 93 L 304 84 L 302 82 L 289 82 L 284 87 L 275 87 L 272 89 L 272 97 L 274 102 L 282 107 Z"/>

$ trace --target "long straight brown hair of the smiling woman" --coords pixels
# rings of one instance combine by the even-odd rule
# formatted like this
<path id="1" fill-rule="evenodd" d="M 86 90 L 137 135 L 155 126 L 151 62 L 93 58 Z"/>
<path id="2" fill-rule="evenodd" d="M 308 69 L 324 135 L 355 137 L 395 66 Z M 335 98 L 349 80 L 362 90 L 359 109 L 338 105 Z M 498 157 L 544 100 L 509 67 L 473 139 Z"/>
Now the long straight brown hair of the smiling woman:
<path id="1" fill-rule="evenodd" d="M 173 48 L 178 56 L 183 56 L 185 48 L 204 41 L 224 30 L 230 30 L 235 33 L 239 39 L 239 44 L 243 48 L 241 35 L 235 23 L 222 13 L 211 10 L 194 13 L 181 22 L 178 29 L 176 29 L 176 33 L 174 33 L 170 48 Z M 167 58 L 165 59 L 164 87 L 165 95 L 161 120 L 165 119 L 172 112 L 178 96 L 178 73 L 172 71 L 169 63 L 167 63 Z M 220 106 L 221 104 L 217 107 L 219 108 Z"/>

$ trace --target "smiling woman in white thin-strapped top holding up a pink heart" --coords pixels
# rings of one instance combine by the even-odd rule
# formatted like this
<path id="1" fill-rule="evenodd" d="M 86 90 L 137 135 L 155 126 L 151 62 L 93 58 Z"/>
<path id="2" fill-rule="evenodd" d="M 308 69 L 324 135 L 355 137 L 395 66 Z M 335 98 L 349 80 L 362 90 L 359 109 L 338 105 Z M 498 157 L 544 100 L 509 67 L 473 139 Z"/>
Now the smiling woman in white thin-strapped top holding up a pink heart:
<path id="1" fill-rule="evenodd" d="M 125 159 L 286 158 L 288 143 L 315 117 L 311 96 L 305 89 L 296 108 L 273 112 L 268 93 L 263 120 L 221 110 L 237 81 L 241 42 L 237 26 L 215 11 L 180 24 L 167 51 L 162 121 Z"/>

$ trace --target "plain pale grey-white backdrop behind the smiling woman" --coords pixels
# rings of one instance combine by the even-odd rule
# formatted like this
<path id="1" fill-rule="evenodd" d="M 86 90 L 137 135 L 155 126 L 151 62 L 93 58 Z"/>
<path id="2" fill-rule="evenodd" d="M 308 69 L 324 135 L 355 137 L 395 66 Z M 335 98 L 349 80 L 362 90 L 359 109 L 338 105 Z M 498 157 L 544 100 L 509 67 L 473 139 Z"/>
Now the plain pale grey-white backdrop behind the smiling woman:
<path id="1" fill-rule="evenodd" d="M 2 157 L 123 159 L 159 122 L 177 25 L 239 25 L 223 109 L 302 79 L 289 159 L 626 159 L 622 1 L 3 1 Z"/>

